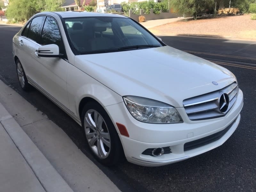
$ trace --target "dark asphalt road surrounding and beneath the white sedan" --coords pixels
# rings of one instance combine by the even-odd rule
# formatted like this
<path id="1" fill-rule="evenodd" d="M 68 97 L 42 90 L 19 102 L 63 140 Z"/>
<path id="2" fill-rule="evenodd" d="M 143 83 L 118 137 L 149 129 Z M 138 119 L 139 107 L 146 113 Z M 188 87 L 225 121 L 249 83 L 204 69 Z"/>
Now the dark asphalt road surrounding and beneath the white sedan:
<path id="1" fill-rule="evenodd" d="M 104 167 L 84 147 L 79 125 L 40 92 L 21 90 L 11 47 L 12 37 L 19 29 L 0 25 L 0 79 L 59 125 L 120 190 L 256 191 L 256 42 L 163 36 L 166 44 L 214 61 L 236 75 L 244 92 L 239 127 L 222 146 L 179 163 L 142 167 L 123 162 Z"/>

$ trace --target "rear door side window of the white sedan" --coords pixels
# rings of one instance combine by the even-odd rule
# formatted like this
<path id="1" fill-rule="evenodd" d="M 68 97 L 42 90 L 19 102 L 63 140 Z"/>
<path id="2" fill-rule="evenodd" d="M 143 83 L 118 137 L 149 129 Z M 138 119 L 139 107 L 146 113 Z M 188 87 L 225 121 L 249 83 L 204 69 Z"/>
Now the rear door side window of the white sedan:
<path id="1" fill-rule="evenodd" d="M 36 17 L 31 21 L 29 31 L 28 31 L 28 38 L 40 43 L 40 36 L 41 36 L 41 26 L 44 20 L 44 16 Z"/>

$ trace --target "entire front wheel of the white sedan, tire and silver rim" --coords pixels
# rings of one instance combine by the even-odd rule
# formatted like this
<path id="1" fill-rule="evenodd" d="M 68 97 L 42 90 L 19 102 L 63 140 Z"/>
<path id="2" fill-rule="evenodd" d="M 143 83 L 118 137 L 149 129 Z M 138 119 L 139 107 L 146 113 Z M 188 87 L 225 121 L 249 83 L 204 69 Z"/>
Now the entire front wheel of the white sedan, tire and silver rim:
<path id="1" fill-rule="evenodd" d="M 115 126 L 100 104 L 85 104 L 82 127 L 88 146 L 100 163 L 109 166 L 119 162 L 123 154 L 122 144 Z"/>

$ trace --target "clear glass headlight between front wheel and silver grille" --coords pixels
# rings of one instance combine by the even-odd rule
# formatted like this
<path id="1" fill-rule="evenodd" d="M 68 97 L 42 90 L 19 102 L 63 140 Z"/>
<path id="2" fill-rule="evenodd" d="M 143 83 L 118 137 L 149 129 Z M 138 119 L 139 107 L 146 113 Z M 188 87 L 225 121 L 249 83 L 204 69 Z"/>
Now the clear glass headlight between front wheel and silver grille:
<path id="1" fill-rule="evenodd" d="M 124 96 L 124 103 L 132 116 L 146 123 L 181 123 L 178 111 L 165 103 L 136 96 Z"/>

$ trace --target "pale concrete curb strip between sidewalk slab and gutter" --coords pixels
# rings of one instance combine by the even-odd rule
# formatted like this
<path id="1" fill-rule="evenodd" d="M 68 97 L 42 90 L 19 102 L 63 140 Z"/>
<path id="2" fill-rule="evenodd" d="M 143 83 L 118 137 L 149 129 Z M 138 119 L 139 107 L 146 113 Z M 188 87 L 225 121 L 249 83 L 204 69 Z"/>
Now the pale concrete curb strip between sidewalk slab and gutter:
<path id="1" fill-rule="evenodd" d="M 34 172 L 45 191 L 73 192 L 66 181 L 36 147 L 20 125 L 0 103 L 0 123 Z"/>

